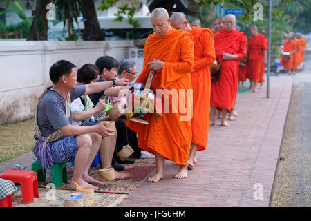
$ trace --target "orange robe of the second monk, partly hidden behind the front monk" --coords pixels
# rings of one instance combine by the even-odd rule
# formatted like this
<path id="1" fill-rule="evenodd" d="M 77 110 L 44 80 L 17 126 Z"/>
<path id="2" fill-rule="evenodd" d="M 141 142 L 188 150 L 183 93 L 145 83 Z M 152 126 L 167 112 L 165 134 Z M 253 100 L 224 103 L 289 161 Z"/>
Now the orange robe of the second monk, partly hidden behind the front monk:
<path id="1" fill-rule="evenodd" d="M 209 131 L 211 97 L 209 65 L 213 64 L 216 59 L 214 36 L 208 28 L 193 28 L 189 33 L 194 37 L 194 69 L 191 71 L 194 93 L 194 115 L 191 119 L 192 143 L 198 144 L 198 151 L 202 151 L 207 147 Z"/>

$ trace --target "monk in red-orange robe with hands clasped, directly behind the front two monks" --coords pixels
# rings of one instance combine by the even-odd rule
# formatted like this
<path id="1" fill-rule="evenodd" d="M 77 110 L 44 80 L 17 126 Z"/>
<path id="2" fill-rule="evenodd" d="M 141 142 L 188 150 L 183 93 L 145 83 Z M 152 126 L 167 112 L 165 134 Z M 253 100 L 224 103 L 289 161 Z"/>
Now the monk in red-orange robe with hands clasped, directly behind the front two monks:
<path id="1" fill-rule="evenodd" d="M 226 121 L 228 111 L 234 110 L 238 92 L 238 63 L 246 52 L 247 37 L 236 28 L 236 17 L 225 16 L 225 29 L 214 35 L 215 54 L 221 62 L 220 78 L 211 83 L 211 124 L 215 124 L 216 108 L 222 110 L 221 125 L 230 126 Z"/>

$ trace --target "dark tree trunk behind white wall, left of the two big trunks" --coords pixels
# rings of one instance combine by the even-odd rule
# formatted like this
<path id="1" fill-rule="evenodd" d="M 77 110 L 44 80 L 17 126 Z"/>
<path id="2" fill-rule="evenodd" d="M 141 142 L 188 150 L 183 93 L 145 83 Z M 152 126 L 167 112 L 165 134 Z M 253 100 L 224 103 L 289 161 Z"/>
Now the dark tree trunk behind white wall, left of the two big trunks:
<path id="1" fill-rule="evenodd" d="M 43 41 L 48 39 L 48 19 L 46 6 L 50 0 L 37 0 L 36 9 L 33 13 L 33 21 L 29 30 L 29 38 L 33 41 Z"/>

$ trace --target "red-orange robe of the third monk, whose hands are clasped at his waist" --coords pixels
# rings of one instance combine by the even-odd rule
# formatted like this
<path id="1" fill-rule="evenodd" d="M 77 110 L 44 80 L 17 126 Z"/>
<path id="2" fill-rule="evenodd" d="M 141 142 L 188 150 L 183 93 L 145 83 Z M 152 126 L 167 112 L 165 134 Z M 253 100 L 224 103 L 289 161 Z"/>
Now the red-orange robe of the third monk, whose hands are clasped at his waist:
<path id="1" fill-rule="evenodd" d="M 225 29 L 218 31 L 214 36 L 215 54 L 218 63 L 223 59 L 223 53 L 238 55 L 236 60 L 224 60 L 221 63 L 220 78 L 211 83 L 211 106 L 226 108 L 228 111 L 234 108 L 236 94 L 238 93 L 238 63 L 246 52 L 247 37 L 243 32 Z"/>

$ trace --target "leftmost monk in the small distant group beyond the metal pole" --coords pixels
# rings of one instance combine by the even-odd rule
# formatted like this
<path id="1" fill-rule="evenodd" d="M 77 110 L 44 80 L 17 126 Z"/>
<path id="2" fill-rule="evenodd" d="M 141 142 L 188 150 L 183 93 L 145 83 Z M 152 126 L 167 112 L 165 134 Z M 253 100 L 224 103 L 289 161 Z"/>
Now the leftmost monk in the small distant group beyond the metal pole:
<path id="1" fill-rule="evenodd" d="M 283 42 L 283 50 L 281 52 L 281 64 L 285 69 L 288 69 L 288 75 L 292 74 L 292 64 L 293 64 L 293 53 L 296 50 L 296 44 L 294 43 L 294 41 L 292 41 L 291 37 L 288 35 L 284 36 L 285 41 Z M 284 61 L 283 57 L 283 53 L 284 52 L 290 52 L 290 59 L 288 61 Z"/>

